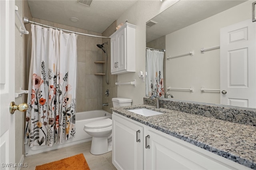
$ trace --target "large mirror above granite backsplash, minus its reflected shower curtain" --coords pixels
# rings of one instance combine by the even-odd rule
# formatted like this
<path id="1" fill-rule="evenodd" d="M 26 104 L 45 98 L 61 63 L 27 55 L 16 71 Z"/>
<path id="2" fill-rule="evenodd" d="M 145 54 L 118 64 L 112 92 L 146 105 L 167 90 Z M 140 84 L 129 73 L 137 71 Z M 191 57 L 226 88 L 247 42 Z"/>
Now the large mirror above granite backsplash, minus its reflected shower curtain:
<path id="1" fill-rule="evenodd" d="M 157 24 L 146 28 L 146 47 L 166 49 L 169 98 L 256 108 L 252 2 L 180 0 L 151 19 Z"/>

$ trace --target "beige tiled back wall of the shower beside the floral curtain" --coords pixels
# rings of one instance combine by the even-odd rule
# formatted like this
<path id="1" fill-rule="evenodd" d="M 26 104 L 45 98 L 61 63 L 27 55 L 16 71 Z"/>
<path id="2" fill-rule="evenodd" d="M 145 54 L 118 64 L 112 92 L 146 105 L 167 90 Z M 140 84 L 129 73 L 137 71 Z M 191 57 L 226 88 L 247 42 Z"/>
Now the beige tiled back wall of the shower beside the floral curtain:
<path id="1" fill-rule="evenodd" d="M 32 21 L 70 30 L 84 34 L 102 36 L 100 33 L 70 27 L 46 20 L 32 18 Z M 102 61 L 102 49 L 96 44 L 101 44 L 102 38 L 78 35 L 77 38 L 77 85 L 76 85 L 76 112 L 102 109 L 102 64 L 94 61 Z"/>

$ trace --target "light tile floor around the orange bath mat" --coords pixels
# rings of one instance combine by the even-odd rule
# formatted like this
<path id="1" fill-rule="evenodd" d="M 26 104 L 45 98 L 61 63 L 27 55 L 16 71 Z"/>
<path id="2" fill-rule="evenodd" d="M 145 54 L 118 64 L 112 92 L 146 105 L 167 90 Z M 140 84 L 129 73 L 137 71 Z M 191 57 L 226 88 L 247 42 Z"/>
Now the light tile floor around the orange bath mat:
<path id="1" fill-rule="evenodd" d="M 84 154 L 84 158 L 86 159 L 90 170 L 116 170 L 112 164 L 112 152 L 102 155 L 93 155 L 90 153 L 90 147 L 91 141 L 26 156 L 23 163 L 27 163 L 28 167 L 21 168 L 21 170 L 35 170 L 37 165 L 46 164 L 80 153 Z"/>

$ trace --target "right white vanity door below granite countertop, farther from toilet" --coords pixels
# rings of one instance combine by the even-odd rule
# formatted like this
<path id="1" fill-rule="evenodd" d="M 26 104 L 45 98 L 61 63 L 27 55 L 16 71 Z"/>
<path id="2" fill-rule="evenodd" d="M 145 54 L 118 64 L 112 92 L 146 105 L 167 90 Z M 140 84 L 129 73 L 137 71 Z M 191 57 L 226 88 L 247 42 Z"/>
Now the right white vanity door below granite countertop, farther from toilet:
<path id="1" fill-rule="evenodd" d="M 184 170 L 184 169 L 250 169 L 236 162 L 218 156 L 188 142 L 146 127 L 144 135 L 150 135 L 144 149 L 145 170 Z"/>

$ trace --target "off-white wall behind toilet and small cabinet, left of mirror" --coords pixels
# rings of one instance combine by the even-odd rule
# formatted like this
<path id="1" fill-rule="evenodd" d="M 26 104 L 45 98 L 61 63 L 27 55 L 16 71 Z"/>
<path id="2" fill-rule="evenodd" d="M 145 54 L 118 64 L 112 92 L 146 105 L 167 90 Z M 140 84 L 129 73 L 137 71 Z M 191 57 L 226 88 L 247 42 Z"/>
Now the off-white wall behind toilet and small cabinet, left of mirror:
<path id="1" fill-rule="evenodd" d="M 132 99 L 132 105 L 143 104 L 143 97 L 146 96 L 146 83 L 138 78 L 138 71 L 146 71 L 146 22 L 158 15 L 160 12 L 170 7 L 176 1 L 165 0 L 138 0 L 134 6 L 124 12 L 118 18 L 117 24 L 125 23 L 136 25 L 136 73 L 126 73 L 118 75 L 117 79 L 121 83 L 130 82 L 136 79 L 137 85 L 121 85 L 117 87 L 118 97 Z"/>

